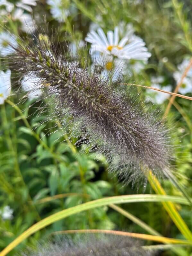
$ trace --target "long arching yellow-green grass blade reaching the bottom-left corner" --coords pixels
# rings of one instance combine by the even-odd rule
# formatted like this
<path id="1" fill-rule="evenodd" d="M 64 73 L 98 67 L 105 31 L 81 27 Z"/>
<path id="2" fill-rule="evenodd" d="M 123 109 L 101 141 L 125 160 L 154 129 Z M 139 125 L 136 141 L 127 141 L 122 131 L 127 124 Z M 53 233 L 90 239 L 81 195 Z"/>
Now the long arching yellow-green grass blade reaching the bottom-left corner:
<path id="1" fill-rule="evenodd" d="M 172 201 L 180 204 L 189 204 L 188 200 L 182 197 L 174 197 L 174 196 L 164 196 L 164 195 L 124 195 L 124 196 L 115 196 L 115 197 L 107 197 L 102 199 L 93 200 L 90 202 L 83 203 L 81 205 L 77 205 L 62 211 L 59 211 L 51 216 L 42 219 L 36 224 L 32 225 L 26 231 L 24 231 L 21 235 L 19 235 L 12 243 L 10 243 L 2 252 L 0 252 L 0 256 L 5 256 L 8 252 L 13 250 L 18 244 L 20 244 L 23 240 L 25 240 L 30 235 L 39 231 L 40 229 L 58 221 L 64 219 L 73 214 L 83 212 L 89 209 L 93 209 L 96 207 L 101 207 L 109 204 L 122 204 L 122 203 L 138 203 L 138 202 L 167 202 Z M 187 241 L 186 241 L 187 243 Z"/>

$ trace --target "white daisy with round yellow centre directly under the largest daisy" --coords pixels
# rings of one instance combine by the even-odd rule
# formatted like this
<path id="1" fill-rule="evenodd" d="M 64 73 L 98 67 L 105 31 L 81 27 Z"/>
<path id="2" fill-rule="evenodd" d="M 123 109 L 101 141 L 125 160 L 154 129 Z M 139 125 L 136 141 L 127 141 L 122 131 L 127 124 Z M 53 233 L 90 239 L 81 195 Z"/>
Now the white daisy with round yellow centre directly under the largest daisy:
<path id="1" fill-rule="evenodd" d="M 126 62 L 125 60 L 114 58 L 111 55 L 104 55 L 100 52 L 94 52 L 92 55 L 94 66 L 101 67 L 101 76 L 103 78 L 109 78 L 111 76 L 112 81 L 115 82 L 122 78 L 125 74 Z"/>

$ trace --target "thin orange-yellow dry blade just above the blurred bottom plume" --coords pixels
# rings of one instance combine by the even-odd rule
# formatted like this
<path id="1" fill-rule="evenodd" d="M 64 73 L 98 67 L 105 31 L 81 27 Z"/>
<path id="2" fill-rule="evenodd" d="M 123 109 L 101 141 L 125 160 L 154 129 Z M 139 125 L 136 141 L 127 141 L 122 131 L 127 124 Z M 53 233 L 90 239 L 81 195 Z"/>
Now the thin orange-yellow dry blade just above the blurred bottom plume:
<path id="1" fill-rule="evenodd" d="M 121 236 L 129 236 L 129 237 L 135 237 L 137 239 L 144 239 L 144 240 L 151 240 L 155 242 L 169 242 L 170 244 L 190 244 L 192 243 L 187 240 L 181 240 L 181 239 L 173 239 L 168 237 L 162 237 L 162 236 L 155 236 L 155 235 L 148 235 L 148 234 L 140 234 L 140 233 L 131 233 L 131 232 L 124 232 L 124 231 L 116 231 L 116 230 L 106 230 L 106 229 L 75 229 L 75 230 L 64 230 L 64 231 L 57 231 L 53 232 L 52 234 L 58 235 L 58 234 L 74 234 L 74 233 L 102 233 L 102 234 L 112 234 L 112 235 L 121 235 Z"/>

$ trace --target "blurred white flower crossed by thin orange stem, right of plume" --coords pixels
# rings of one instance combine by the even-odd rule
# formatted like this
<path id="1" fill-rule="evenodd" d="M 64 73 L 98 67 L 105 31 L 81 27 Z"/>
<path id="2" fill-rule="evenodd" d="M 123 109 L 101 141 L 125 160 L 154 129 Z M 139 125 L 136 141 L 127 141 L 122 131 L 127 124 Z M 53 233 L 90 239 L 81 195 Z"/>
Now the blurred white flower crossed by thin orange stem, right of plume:
<path id="1" fill-rule="evenodd" d="M 160 89 L 160 90 L 164 90 L 167 92 L 171 92 L 172 90 L 172 86 L 169 84 L 167 86 L 161 86 L 161 83 L 164 82 L 164 77 L 163 76 L 158 76 L 158 77 L 152 77 L 151 78 L 151 87 L 156 88 L 156 89 Z M 162 92 L 158 92 L 155 90 L 150 90 L 148 89 L 147 94 L 149 96 L 149 98 L 147 98 L 147 101 L 151 101 L 154 104 L 162 104 L 166 99 L 168 99 L 170 97 L 170 94 L 168 93 L 162 93 Z"/>

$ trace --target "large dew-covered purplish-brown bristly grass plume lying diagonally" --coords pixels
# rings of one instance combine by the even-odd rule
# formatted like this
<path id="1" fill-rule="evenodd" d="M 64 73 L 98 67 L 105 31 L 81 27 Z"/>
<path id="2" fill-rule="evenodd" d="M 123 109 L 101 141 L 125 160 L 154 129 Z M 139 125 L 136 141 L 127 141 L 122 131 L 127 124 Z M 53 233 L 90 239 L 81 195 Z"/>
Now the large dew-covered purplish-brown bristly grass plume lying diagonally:
<path id="1" fill-rule="evenodd" d="M 149 170 L 168 176 L 170 132 L 157 111 L 144 107 L 130 86 L 114 84 L 86 61 L 83 66 L 71 57 L 69 62 L 69 51 L 65 56 L 49 45 L 47 37 L 23 42 L 10 60 L 23 79 L 33 81 L 31 91 L 39 88 L 49 99 L 65 132 L 79 138 L 77 145 L 86 141 L 105 154 L 109 170 L 127 182 L 137 182 Z"/>

